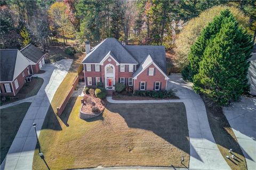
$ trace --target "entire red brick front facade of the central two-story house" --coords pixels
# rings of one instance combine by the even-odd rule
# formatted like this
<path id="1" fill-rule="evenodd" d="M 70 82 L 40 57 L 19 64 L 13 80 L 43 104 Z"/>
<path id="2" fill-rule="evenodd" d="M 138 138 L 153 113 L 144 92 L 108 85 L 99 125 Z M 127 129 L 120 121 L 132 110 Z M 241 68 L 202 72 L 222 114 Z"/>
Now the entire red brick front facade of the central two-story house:
<path id="1" fill-rule="evenodd" d="M 110 60 L 111 61 L 110 61 Z M 129 72 L 129 65 L 125 65 L 125 71 L 120 71 L 120 65 L 116 65 L 116 62 L 111 58 L 108 57 L 105 62 L 103 62 L 103 65 L 100 65 L 100 71 L 95 71 L 95 64 L 91 64 L 91 71 L 87 71 L 86 64 L 84 64 L 85 68 L 85 86 L 86 87 L 96 87 L 96 81 L 95 78 L 99 77 L 101 79 L 101 82 L 103 84 L 106 83 L 105 81 L 105 67 L 106 65 L 111 64 L 115 67 L 115 83 L 120 82 L 120 78 L 124 78 L 124 83 L 126 86 L 129 85 L 129 78 L 133 78 L 133 73 L 136 71 L 136 66 L 133 67 L 133 72 Z M 150 76 L 148 75 L 148 69 L 150 67 L 154 68 L 154 75 Z M 92 78 L 92 85 L 89 86 L 87 83 L 87 78 Z M 114 81 L 114 80 L 113 80 Z M 160 89 L 159 90 L 165 90 L 166 89 L 166 80 L 165 76 L 157 69 L 157 67 L 154 66 L 154 64 L 149 65 L 143 72 L 141 72 L 137 79 L 133 79 L 132 86 L 134 90 L 140 90 L 140 82 L 145 81 L 146 82 L 146 88 L 145 90 L 155 90 L 155 82 L 159 82 Z"/>

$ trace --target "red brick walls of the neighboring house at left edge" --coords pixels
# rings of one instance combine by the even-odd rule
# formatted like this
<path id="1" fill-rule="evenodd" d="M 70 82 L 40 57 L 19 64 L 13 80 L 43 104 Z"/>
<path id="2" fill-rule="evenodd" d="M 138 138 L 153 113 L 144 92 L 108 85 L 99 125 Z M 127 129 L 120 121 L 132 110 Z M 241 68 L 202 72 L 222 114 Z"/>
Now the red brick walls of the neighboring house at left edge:
<path id="1" fill-rule="evenodd" d="M 29 66 L 28 66 L 29 67 Z M 18 83 L 19 83 L 19 87 L 18 87 L 18 89 L 15 89 L 15 84 L 14 84 L 14 81 L 16 80 L 16 79 L 14 79 L 14 81 L 12 82 L 12 86 L 11 86 L 11 88 L 13 87 L 13 89 L 12 89 L 12 91 L 14 92 L 5 92 L 5 90 L 4 90 L 4 83 L 1 83 L 1 89 L 2 89 L 2 93 L 1 93 L 1 96 L 14 96 L 14 94 L 15 94 L 15 96 L 18 94 L 18 92 L 20 91 L 20 89 L 23 87 L 23 85 L 25 84 L 25 79 L 26 79 L 26 77 L 29 75 L 28 74 L 28 67 L 26 67 L 26 69 L 25 70 L 23 70 L 23 72 L 24 72 L 24 74 L 25 74 L 25 76 L 24 77 L 22 77 L 22 72 L 18 75 L 18 77 L 16 78 L 17 80 L 18 80 Z"/>

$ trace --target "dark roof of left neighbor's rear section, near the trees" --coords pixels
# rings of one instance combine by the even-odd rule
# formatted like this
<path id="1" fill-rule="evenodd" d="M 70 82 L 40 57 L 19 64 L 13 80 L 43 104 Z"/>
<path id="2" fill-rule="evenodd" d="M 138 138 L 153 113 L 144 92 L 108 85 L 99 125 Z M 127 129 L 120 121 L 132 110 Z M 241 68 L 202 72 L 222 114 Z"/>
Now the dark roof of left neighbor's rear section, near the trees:
<path id="1" fill-rule="evenodd" d="M 33 44 L 29 44 L 25 48 L 21 49 L 20 52 L 34 63 L 37 63 L 44 55 L 44 53 Z"/>

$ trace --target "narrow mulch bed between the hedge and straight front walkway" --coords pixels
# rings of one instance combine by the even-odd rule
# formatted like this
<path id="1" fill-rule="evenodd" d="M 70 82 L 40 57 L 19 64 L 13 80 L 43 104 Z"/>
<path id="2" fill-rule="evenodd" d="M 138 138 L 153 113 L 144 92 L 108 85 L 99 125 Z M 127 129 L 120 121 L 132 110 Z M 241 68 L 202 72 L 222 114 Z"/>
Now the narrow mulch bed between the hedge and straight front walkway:
<path id="1" fill-rule="evenodd" d="M 170 100 L 170 99 L 180 99 L 177 96 L 168 97 L 168 98 L 153 98 L 149 96 L 134 96 L 131 94 L 131 96 L 127 94 L 116 94 L 112 96 L 112 99 L 114 100 Z"/>

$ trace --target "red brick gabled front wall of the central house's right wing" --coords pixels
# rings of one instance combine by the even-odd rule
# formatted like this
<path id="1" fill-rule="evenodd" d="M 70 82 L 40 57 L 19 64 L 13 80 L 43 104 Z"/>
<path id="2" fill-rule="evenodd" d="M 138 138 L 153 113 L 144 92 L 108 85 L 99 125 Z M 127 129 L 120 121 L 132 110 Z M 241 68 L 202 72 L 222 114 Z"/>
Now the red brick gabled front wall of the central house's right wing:
<path id="1" fill-rule="evenodd" d="M 149 67 L 155 68 L 155 75 L 149 76 L 148 69 Z M 145 69 L 142 73 L 140 73 L 136 80 L 134 80 L 134 90 L 140 90 L 140 82 L 145 81 L 147 82 L 147 89 L 146 90 L 154 90 L 154 82 L 159 81 L 162 82 L 161 90 L 165 90 L 166 87 L 166 80 L 164 75 L 153 65 L 149 65 L 147 69 Z"/>

